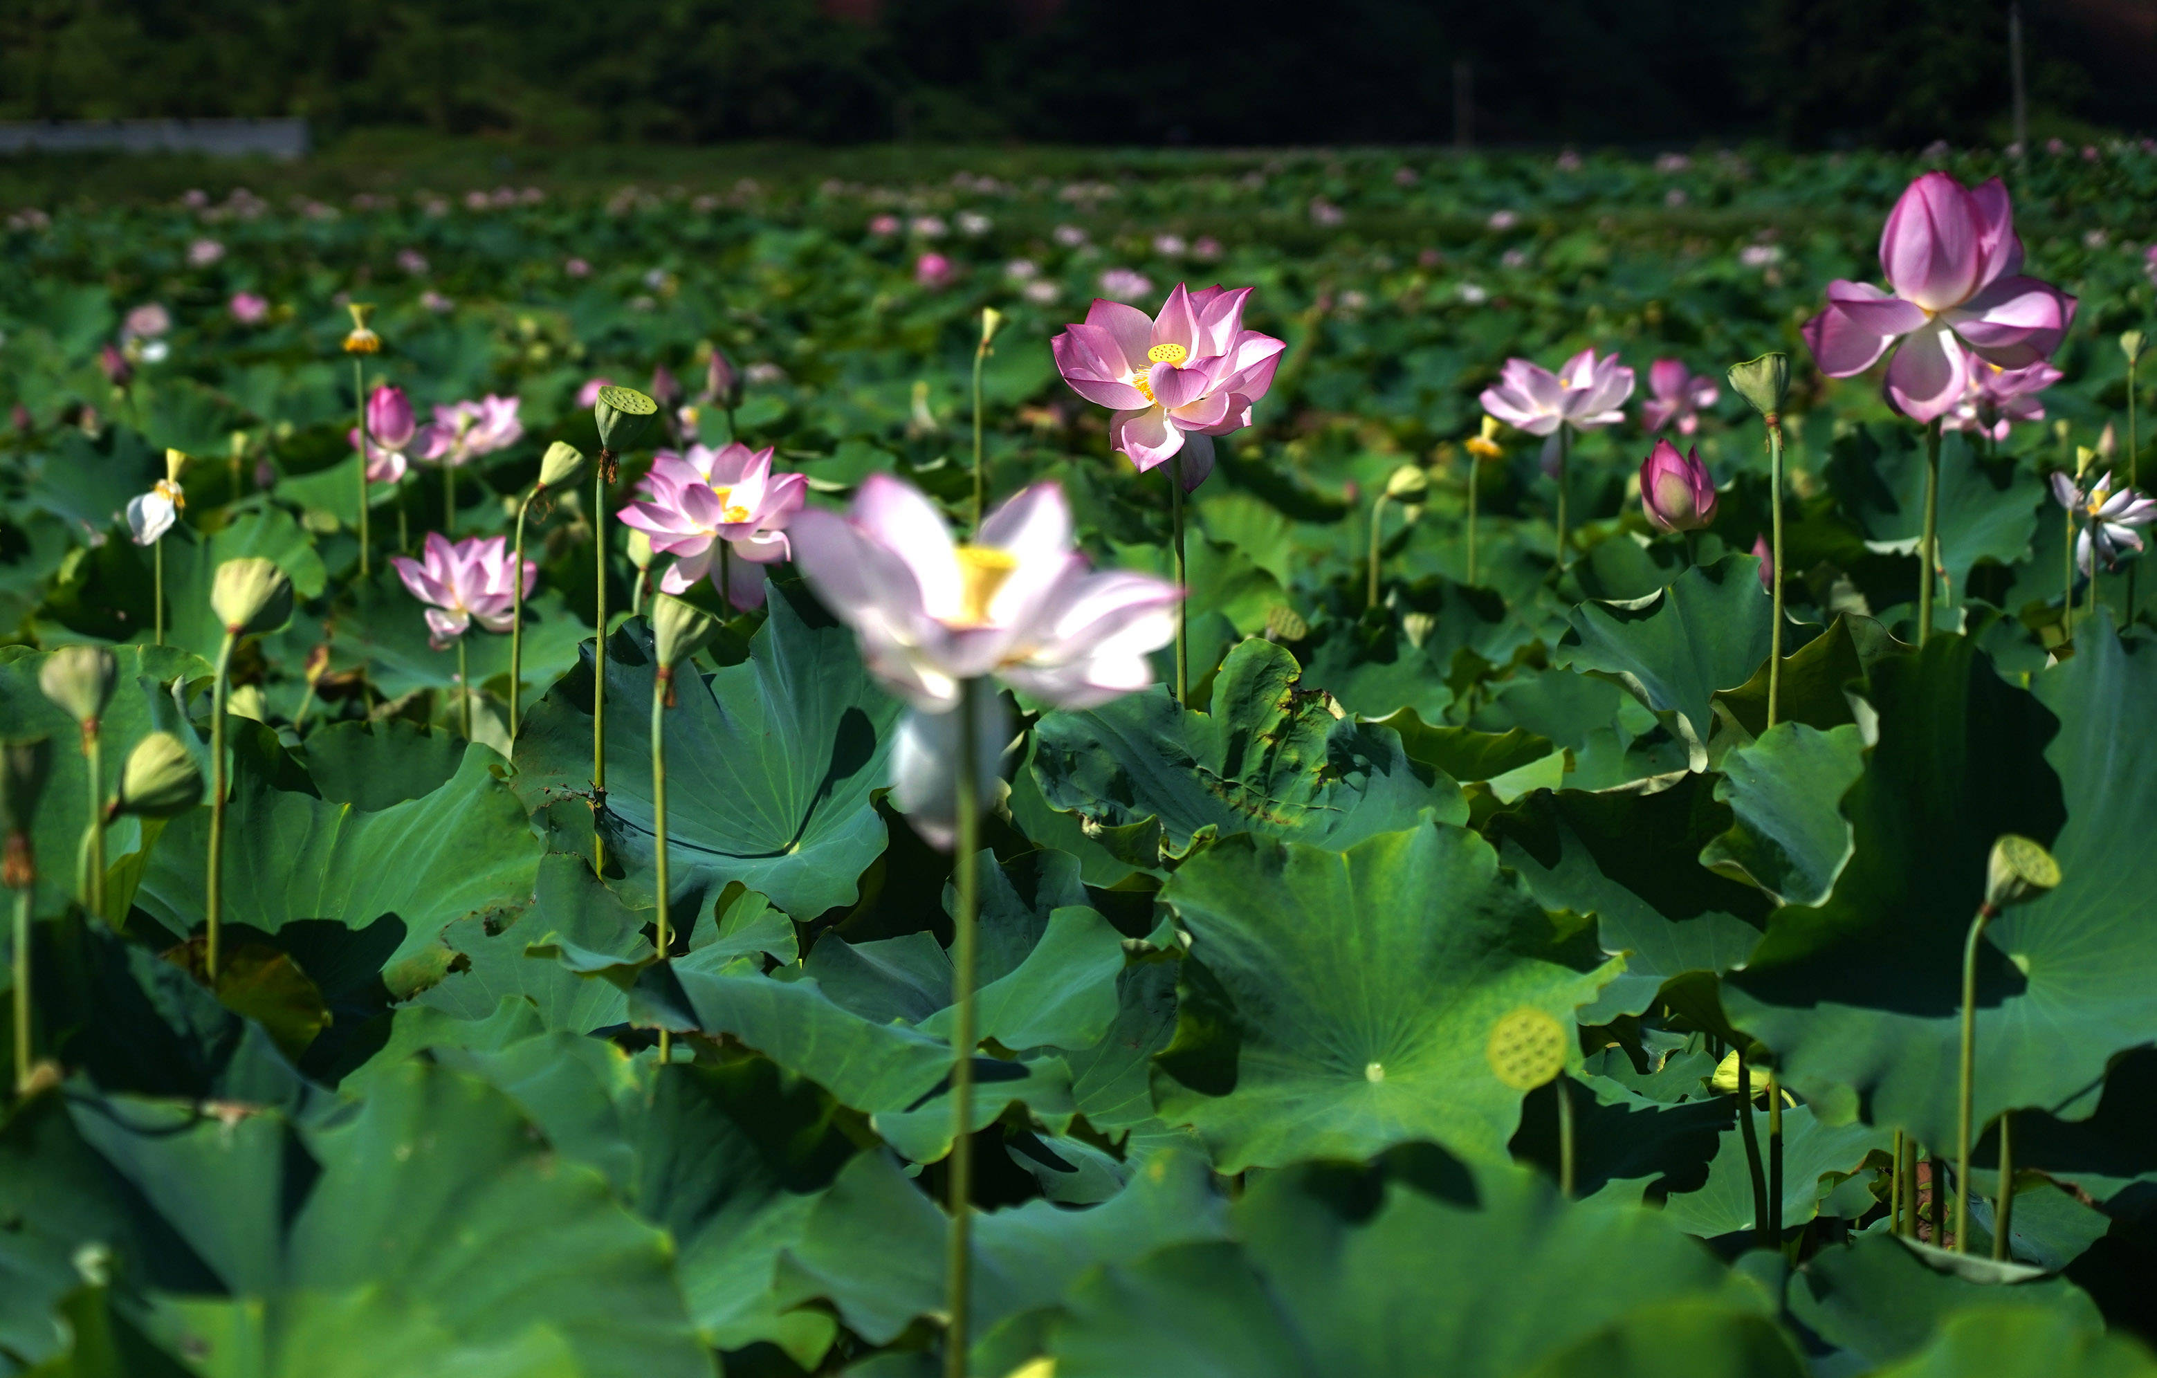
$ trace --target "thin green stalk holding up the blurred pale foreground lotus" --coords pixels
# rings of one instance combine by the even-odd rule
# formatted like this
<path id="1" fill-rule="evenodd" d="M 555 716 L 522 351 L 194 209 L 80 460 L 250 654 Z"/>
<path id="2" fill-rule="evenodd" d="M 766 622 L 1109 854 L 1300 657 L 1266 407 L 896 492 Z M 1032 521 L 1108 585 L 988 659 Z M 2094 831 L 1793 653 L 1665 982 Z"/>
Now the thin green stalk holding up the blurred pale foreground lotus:
<path id="1" fill-rule="evenodd" d="M 1182 487 L 1182 485 L 1178 485 Z M 979 910 L 981 744 L 973 729 L 984 686 L 968 679 L 958 703 L 958 906 L 951 914 L 951 1234 L 945 1240 L 945 1378 L 966 1378 L 968 1300 L 973 1294 L 973 966 Z"/>

